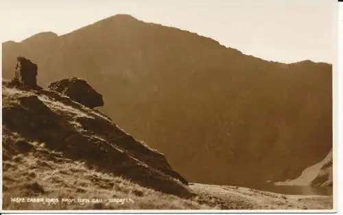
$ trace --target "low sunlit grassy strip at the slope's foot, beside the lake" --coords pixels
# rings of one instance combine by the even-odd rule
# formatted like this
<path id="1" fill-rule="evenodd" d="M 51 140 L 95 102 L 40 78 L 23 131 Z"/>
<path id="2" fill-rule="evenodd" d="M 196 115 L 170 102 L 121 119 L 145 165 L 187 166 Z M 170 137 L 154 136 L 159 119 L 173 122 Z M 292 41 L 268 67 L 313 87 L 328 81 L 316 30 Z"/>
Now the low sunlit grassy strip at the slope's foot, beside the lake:
<path id="1" fill-rule="evenodd" d="M 191 184 L 206 203 L 224 210 L 333 210 L 333 196 L 279 194 L 239 186 Z"/>

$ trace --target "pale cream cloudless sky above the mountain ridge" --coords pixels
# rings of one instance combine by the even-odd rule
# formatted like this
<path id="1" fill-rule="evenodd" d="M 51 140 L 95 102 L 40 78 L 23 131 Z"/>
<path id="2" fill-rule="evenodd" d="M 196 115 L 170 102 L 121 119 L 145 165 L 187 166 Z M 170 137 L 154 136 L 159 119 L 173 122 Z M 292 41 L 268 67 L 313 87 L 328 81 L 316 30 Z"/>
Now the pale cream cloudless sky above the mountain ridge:
<path id="1" fill-rule="evenodd" d="M 337 0 L 0 0 L 0 42 L 58 35 L 115 14 L 211 37 L 278 62 L 335 62 Z"/>

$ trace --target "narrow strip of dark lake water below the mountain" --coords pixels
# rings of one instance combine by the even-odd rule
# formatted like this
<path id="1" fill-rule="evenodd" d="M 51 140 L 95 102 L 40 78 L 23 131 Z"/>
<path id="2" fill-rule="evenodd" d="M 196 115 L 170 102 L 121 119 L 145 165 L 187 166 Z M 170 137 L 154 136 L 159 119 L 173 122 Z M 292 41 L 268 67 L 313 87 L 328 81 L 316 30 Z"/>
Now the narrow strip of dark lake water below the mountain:
<path id="1" fill-rule="evenodd" d="M 250 188 L 257 190 L 264 190 L 268 192 L 276 192 L 281 194 L 294 195 L 322 195 L 331 196 L 333 192 L 332 187 L 311 187 L 311 186 L 276 186 L 274 184 L 263 184 L 251 186 Z"/>

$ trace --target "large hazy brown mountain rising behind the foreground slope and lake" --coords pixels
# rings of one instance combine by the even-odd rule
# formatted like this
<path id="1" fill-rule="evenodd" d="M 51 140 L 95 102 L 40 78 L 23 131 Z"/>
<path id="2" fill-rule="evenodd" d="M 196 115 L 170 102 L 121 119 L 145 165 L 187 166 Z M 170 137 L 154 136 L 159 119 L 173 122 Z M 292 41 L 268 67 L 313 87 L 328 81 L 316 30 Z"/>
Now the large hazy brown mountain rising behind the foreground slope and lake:
<path id="1" fill-rule="evenodd" d="M 268 62 L 128 15 L 5 42 L 3 77 L 18 55 L 38 64 L 42 86 L 87 79 L 102 111 L 189 181 L 294 179 L 332 148 L 329 64 Z"/>

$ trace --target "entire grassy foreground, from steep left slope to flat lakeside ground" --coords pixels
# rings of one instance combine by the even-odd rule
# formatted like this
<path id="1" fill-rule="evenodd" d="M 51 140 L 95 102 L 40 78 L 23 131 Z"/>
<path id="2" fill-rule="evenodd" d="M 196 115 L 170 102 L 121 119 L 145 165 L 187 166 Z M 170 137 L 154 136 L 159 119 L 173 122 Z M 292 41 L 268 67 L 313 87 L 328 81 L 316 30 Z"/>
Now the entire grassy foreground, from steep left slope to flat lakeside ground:
<path id="1" fill-rule="evenodd" d="M 2 90 L 4 210 L 332 208 L 332 197 L 187 186 L 100 112 L 49 90 Z M 50 202 L 20 202 L 34 197 Z"/>

